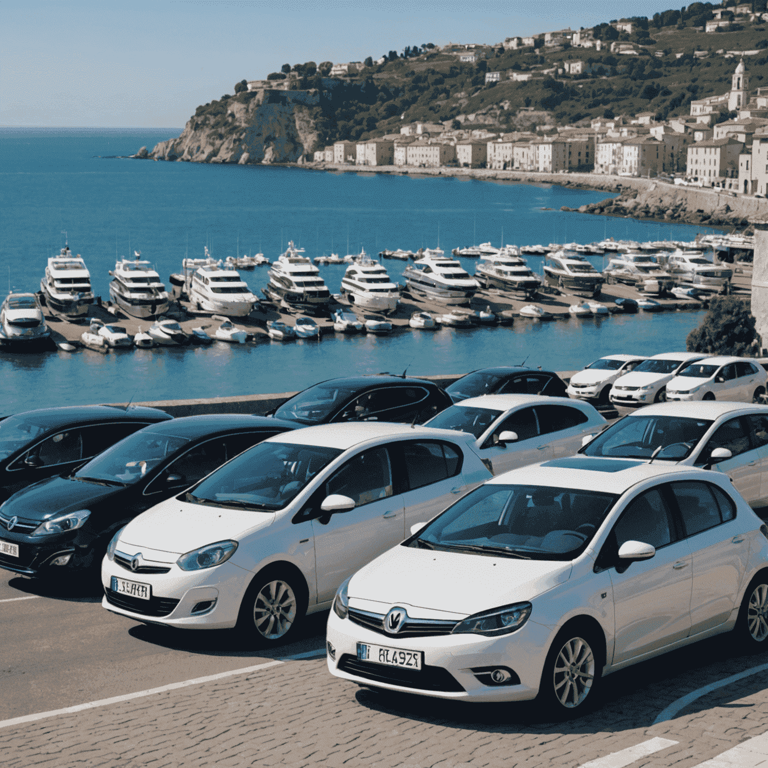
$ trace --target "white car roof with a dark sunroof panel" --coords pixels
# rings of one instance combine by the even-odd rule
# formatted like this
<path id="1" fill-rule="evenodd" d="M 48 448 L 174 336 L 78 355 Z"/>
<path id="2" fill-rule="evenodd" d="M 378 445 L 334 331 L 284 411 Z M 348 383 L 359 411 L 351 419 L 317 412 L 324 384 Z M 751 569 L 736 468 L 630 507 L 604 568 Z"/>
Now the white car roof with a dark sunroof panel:
<path id="1" fill-rule="evenodd" d="M 700 474 L 701 479 L 712 475 L 703 469 L 682 468 L 677 464 L 649 464 L 644 460 L 577 455 L 512 469 L 486 481 L 486 485 L 548 485 L 621 495 L 649 478 L 675 474 Z"/>

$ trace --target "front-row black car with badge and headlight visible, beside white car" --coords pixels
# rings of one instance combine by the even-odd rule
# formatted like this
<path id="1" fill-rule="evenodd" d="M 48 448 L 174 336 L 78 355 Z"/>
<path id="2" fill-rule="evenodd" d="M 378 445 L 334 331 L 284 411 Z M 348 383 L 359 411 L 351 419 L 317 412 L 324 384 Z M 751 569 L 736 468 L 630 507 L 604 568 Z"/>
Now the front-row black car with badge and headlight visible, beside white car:
<path id="1" fill-rule="evenodd" d="M 94 570 L 118 528 L 296 423 L 247 414 L 186 416 L 145 427 L 71 475 L 0 505 L 0 568 L 29 576 Z"/>

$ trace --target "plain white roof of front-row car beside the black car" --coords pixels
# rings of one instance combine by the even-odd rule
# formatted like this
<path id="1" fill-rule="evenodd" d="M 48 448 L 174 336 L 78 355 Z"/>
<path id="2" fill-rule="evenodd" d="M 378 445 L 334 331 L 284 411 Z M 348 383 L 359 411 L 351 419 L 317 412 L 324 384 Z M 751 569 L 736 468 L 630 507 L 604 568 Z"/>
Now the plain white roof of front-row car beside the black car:
<path id="1" fill-rule="evenodd" d="M 318 424 L 296 429 L 294 432 L 275 435 L 266 442 L 289 442 L 296 445 L 320 445 L 346 451 L 368 440 L 377 438 L 434 438 L 452 442 L 475 441 L 474 435 L 455 432 L 453 429 L 433 429 L 419 425 L 393 422 L 341 422 L 339 424 Z"/>

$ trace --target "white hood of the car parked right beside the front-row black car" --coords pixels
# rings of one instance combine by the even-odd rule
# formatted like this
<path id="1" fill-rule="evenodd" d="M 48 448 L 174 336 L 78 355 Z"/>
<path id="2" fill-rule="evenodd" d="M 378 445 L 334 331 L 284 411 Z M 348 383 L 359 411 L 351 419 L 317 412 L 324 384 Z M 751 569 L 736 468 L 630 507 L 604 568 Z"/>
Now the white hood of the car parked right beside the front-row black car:
<path id="1" fill-rule="evenodd" d="M 125 527 L 121 544 L 184 554 L 214 541 L 234 539 L 266 528 L 273 512 L 187 504 L 170 498 L 142 512 Z"/>

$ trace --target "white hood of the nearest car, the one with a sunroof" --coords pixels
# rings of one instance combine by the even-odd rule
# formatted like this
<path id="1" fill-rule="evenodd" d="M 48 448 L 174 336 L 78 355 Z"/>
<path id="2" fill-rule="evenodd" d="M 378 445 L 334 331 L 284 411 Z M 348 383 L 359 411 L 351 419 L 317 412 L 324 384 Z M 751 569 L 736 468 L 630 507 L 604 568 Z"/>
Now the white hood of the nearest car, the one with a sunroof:
<path id="1" fill-rule="evenodd" d="M 571 569 L 570 561 L 518 560 L 399 545 L 353 576 L 349 599 L 365 601 L 371 611 L 376 610 L 371 603 L 379 603 L 378 613 L 403 604 L 468 616 L 531 600 L 568 581 Z"/>

